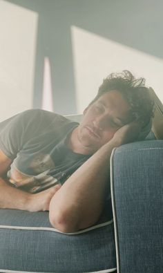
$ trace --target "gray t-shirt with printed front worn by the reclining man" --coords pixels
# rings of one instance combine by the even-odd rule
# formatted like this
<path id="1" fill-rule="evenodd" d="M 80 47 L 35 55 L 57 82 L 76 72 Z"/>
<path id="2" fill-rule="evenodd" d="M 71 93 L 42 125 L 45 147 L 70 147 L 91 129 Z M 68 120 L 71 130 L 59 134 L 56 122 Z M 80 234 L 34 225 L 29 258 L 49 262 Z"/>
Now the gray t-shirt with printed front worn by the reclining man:
<path id="1" fill-rule="evenodd" d="M 12 159 L 8 181 L 31 193 L 66 179 L 90 156 L 66 147 L 66 138 L 79 124 L 66 117 L 33 109 L 0 123 L 0 149 Z"/>

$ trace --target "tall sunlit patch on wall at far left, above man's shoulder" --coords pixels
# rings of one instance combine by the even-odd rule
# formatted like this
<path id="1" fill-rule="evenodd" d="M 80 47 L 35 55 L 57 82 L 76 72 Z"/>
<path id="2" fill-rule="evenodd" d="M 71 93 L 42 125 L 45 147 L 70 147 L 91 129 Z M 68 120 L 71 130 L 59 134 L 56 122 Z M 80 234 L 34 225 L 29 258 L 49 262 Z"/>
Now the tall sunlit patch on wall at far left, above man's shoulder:
<path id="1" fill-rule="evenodd" d="M 38 14 L 0 1 L 0 121 L 32 108 Z"/>

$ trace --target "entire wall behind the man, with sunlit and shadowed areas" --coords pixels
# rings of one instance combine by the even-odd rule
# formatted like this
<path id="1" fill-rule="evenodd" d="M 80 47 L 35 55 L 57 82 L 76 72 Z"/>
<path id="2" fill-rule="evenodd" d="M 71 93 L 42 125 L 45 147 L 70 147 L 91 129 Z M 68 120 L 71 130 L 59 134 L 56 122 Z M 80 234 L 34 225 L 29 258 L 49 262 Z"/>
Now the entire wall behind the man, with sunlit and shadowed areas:
<path id="1" fill-rule="evenodd" d="M 47 104 L 82 113 L 104 77 L 123 69 L 163 101 L 163 2 L 146 3 L 0 0 L 0 121 Z"/>

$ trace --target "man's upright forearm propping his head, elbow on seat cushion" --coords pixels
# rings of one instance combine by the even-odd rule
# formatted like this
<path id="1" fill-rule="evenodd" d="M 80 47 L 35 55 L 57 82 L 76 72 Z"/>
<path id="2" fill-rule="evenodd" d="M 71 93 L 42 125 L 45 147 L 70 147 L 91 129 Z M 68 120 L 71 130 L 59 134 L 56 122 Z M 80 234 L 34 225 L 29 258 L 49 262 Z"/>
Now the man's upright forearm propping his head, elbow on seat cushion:
<path id="1" fill-rule="evenodd" d="M 73 232 L 93 225 L 104 207 L 109 160 L 114 147 L 111 140 L 91 156 L 50 202 L 50 222 L 63 232 Z"/>

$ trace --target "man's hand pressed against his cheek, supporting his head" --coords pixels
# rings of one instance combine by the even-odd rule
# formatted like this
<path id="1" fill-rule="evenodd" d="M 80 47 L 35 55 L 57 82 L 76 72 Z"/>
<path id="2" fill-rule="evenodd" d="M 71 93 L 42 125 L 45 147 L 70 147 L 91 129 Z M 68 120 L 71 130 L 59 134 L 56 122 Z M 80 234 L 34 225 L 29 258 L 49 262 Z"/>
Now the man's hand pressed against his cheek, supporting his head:
<path id="1" fill-rule="evenodd" d="M 113 135 L 113 140 L 119 143 L 119 145 L 136 141 L 141 130 L 142 124 L 140 122 L 130 122 L 120 129 L 118 129 Z"/>

